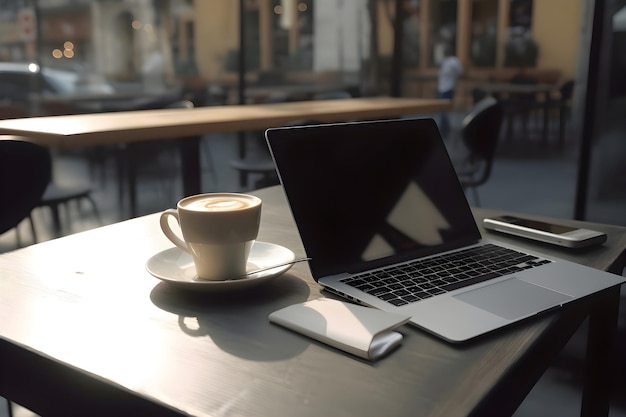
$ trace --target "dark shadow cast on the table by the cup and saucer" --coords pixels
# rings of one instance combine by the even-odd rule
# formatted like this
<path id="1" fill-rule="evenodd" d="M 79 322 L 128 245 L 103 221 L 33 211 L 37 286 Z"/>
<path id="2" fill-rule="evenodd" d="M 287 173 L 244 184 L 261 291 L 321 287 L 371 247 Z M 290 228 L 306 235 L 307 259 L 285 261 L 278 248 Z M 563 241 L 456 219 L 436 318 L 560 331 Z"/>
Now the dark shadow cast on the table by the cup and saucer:
<path id="1" fill-rule="evenodd" d="M 295 357 L 311 341 L 269 322 L 271 312 L 308 299 L 307 284 L 289 273 L 267 284 L 236 293 L 181 291 L 159 283 L 150 294 L 162 310 L 178 315 L 180 329 L 208 336 L 216 346 L 255 361 Z"/>

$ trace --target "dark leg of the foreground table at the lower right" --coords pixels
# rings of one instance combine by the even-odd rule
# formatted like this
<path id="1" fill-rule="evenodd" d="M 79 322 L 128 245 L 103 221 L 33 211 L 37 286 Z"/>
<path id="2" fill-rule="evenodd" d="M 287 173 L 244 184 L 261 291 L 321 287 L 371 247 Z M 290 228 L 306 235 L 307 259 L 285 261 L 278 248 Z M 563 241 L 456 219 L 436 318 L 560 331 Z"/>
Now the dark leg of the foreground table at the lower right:
<path id="1" fill-rule="evenodd" d="M 587 359 L 581 416 L 608 416 L 616 355 L 614 350 L 619 310 L 619 287 L 593 300 L 589 314 Z"/>

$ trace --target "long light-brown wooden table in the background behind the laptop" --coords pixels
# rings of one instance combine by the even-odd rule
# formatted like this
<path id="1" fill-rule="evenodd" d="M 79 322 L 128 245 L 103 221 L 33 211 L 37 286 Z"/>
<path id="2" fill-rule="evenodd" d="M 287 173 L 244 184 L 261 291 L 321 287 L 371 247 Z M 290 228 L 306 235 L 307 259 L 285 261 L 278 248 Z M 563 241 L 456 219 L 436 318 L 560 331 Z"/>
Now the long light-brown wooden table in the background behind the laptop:
<path id="1" fill-rule="evenodd" d="M 48 147 L 75 148 L 181 138 L 183 193 L 201 191 L 200 136 L 277 127 L 295 120 L 340 122 L 384 119 L 450 109 L 449 100 L 370 97 L 195 109 L 159 109 L 0 121 L 0 134 Z M 131 186 L 131 199 L 135 192 Z M 134 202 L 131 201 L 131 206 Z M 134 214 L 134 213 L 132 213 Z"/>

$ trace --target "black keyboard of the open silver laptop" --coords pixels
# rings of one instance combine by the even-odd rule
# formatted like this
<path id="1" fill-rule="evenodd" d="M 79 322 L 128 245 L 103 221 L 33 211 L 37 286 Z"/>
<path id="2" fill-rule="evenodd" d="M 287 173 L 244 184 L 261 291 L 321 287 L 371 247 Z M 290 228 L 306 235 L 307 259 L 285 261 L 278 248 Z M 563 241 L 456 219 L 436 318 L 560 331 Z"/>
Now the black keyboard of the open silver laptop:
<path id="1" fill-rule="evenodd" d="M 487 244 L 354 275 L 341 282 L 402 306 L 550 262 Z"/>

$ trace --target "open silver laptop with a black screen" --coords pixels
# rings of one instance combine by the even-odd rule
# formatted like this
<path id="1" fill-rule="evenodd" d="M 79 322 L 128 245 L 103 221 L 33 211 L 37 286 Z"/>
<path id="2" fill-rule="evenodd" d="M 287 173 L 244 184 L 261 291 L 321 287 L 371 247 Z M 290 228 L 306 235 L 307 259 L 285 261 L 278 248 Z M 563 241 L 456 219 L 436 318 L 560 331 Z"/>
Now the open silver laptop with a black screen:
<path id="1" fill-rule="evenodd" d="M 433 119 L 273 128 L 316 282 L 465 342 L 625 280 L 481 237 Z"/>

